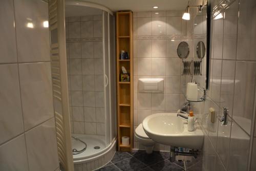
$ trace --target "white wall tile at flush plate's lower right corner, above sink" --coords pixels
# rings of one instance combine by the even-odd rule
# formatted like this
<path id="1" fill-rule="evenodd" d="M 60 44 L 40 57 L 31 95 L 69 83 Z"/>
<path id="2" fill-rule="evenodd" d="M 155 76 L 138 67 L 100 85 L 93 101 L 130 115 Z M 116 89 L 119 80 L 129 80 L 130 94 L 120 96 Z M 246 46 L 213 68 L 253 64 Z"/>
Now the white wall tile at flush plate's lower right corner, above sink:
<path id="1" fill-rule="evenodd" d="M 165 94 L 165 110 L 178 111 L 180 109 L 180 94 Z"/>

